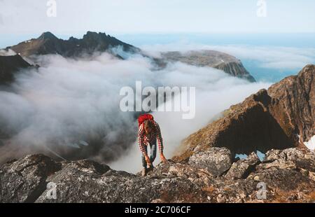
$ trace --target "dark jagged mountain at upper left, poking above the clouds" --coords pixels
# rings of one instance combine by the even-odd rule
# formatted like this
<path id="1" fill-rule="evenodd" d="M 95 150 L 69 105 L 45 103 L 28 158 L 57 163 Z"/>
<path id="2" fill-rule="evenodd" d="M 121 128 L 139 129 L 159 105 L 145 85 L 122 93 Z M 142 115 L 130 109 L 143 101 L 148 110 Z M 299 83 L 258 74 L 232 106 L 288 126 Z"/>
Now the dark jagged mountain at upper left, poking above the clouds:
<path id="1" fill-rule="evenodd" d="M 110 48 L 116 46 L 121 46 L 126 52 L 139 51 L 138 48 L 119 41 L 117 38 L 106 35 L 105 33 L 92 31 L 87 31 L 87 34 L 81 39 L 71 37 L 69 40 L 62 40 L 50 32 L 45 32 L 38 38 L 33 38 L 8 48 L 20 53 L 23 57 L 48 54 L 79 57 L 81 55 L 92 55 L 93 52 L 109 51 Z"/>

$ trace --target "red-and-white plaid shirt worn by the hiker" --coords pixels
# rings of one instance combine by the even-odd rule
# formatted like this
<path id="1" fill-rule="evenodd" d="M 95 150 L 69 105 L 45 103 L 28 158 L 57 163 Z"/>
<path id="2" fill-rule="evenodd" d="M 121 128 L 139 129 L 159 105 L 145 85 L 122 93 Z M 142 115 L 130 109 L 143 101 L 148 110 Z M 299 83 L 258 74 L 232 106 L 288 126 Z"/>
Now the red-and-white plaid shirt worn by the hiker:
<path id="1" fill-rule="evenodd" d="M 159 146 L 160 153 L 163 153 L 163 140 L 161 135 L 160 126 L 153 120 L 153 124 L 155 125 L 155 130 L 152 130 L 150 134 L 146 134 L 144 132 L 144 123 L 142 123 L 139 127 L 138 131 L 138 144 L 142 153 L 146 153 L 145 146 L 148 146 L 152 141 L 156 139 Z"/>

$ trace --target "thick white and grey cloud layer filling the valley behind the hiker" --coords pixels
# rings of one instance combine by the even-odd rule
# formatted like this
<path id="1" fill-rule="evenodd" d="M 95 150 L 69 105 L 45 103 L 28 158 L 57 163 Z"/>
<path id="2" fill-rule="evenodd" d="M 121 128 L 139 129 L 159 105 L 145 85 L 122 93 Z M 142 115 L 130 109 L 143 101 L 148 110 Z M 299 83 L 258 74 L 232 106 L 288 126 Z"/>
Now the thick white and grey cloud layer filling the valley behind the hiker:
<path id="1" fill-rule="evenodd" d="M 2 133 L 13 135 L 3 139 L 3 158 L 44 152 L 112 162 L 115 169 L 137 172 L 137 120 L 135 113 L 120 111 L 121 87 L 134 87 L 136 80 L 144 86 L 196 87 L 193 120 L 183 120 L 182 113 L 153 113 L 171 158 L 182 139 L 231 104 L 269 86 L 181 63 L 155 71 L 150 59 L 137 55 L 127 60 L 107 53 L 77 60 L 48 55 L 37 61 L 41 68 L 21 72 L 10 92 L 0 91 Z"/>

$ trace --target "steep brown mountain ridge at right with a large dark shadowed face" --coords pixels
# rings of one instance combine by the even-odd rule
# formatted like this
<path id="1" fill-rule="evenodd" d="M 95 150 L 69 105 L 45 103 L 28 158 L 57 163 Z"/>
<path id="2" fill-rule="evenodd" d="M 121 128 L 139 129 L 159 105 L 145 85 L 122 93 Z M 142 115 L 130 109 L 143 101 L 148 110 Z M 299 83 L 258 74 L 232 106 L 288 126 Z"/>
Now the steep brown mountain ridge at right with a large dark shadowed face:
<path id="1" fill-rule="evenodd" d="M 232 153 L 263 153 L 272 148 L 304 147 L 315 134 L 315 65 L 297 76 L 231 106 L 223 118 L 190 135 L 175 160 L 208 147 L 228 147 Z"/>

